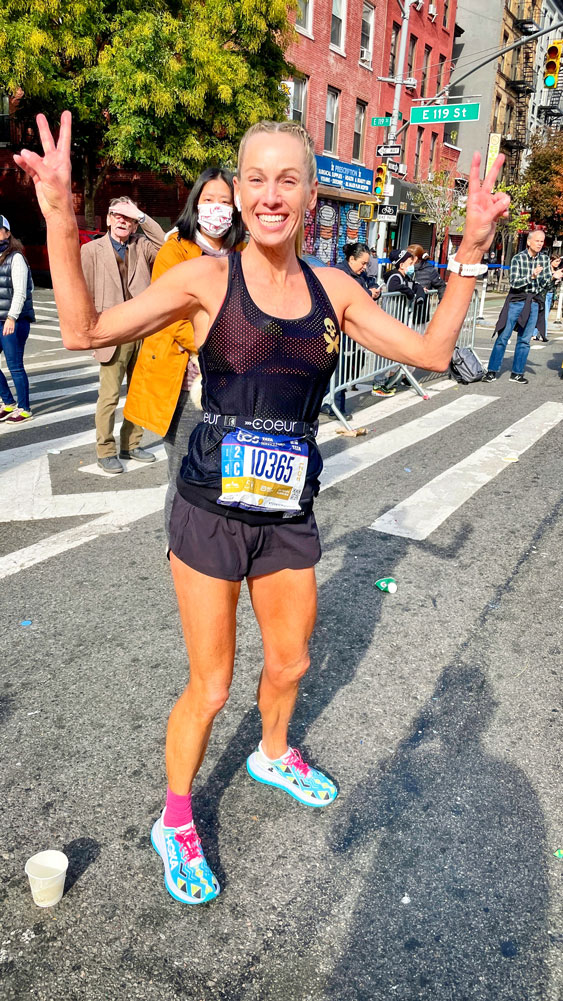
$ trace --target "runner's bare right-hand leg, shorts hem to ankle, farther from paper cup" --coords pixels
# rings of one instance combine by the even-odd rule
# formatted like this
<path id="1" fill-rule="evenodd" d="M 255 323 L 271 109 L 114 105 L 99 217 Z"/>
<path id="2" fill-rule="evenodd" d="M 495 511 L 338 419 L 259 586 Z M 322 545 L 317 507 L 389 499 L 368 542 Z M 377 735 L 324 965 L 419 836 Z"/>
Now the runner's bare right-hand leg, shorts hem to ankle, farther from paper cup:
<path id="1" fill-rule="evenodd" d="M 250 578 L 248 591 L 263 643 L 257 691 L 262 750 L 275 759 L 288 750 L 300 680 L 310 665 L 309 641 L 317 618 L 315 570 L 283 570 Z"/>

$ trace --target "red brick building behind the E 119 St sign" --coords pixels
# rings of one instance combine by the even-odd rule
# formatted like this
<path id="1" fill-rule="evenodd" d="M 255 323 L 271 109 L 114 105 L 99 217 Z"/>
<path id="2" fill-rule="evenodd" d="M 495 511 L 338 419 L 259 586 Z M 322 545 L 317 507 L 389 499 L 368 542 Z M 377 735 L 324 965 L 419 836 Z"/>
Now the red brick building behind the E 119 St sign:
<path id="1" fill-rule="evenodd" d="M 411 7 L 404 75 L 415 77 L 417 87 L 403 89 L 403 122 L 409 120 L 416 98 L 431 97 L 448 83 L 456 8 L 457 0 L 434 4 L 420 0 Z M 297 68 L 295 79 L 289 81 L 290 115 L 307 126 L 320 164 L 334 157 L 352 172 L 362 167 L 368 173 L 375 170 L 381 162 L 377 146 L 387 141 L 388 129 L 371 122 L 393 109 L 395 88 L 378 77 L 397 71 L 401 29 L 397 0 L 300 0 L 296 27 L 299 40 L 288 53 Z M 417 220 L 413 209 L 415 182 L 445 163 L 455 168 L 459 150 L 444 141 L 440 125 L 409 126 L 401 141 L 401 160 L 407 169 L 401 180 L 393 180 L 392 201 L 400 211 L 397 224 L 388 230 L 387 249 L 413 239 L 430 249 L 433 227 Z M 368 228 L 358 218 L 358 205 L 367 197 L 361 184 L 354 190 L 327 186 L 322 176 L 320 181 L 319 207 L 307 224 L 307 248 L 334 263 L 347 240 L 375 243 L 376 227 Z"/>

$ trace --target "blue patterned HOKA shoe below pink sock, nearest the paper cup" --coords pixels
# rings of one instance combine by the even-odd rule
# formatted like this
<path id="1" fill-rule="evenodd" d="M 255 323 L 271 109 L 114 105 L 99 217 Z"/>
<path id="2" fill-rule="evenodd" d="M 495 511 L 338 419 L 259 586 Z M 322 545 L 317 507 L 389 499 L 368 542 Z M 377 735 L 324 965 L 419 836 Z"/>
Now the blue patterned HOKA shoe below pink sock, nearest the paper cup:
<path id="1" fill-rule="evenodd" d="M 152 847 L 164 863 L 164 886 L 183 904 L 206 904 L 220 892 L 205 861 L 193 823 L 164 827 L 160 816 L 150 832 Z"/>

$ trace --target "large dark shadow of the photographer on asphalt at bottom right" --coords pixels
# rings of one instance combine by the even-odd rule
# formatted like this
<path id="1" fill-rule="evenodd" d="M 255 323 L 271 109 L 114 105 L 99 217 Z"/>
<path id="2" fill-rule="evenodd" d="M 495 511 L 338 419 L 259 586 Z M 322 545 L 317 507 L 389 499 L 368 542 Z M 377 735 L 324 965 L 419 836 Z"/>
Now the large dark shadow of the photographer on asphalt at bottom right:
<path id="1" fill-rule="evenodd" d="M 448 667 L 356 791 L 336 851 L 377 848 L 326 997 L 547 996 L 543 816 L 524 773 L 481 743 L 494 711 L 479 666 Z"/>

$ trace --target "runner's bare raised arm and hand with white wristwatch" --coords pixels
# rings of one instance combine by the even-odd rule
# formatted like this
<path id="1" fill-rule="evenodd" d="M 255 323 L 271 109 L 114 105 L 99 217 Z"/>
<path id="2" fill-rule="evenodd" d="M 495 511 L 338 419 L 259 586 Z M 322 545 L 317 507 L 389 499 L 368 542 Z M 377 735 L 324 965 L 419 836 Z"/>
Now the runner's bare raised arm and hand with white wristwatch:
<path id="1" fill-rule="evenodd" d="M 493 194 L 503 162 L 504 157 L 499 156 L 481 184 L 481 157 L 478 153 L 473 157 L 466 225 L 462 243 L 456 251 L 456 259 L 462 263 L 481 262 L 492 243 L 497 220 L 508 214 L 510 197 L 504 192 Z M 393 361 L 432 371 L 444 371 L 448 367 L 469 309 L 475 278 L 450 275 L 442 302 L 426 333 L 421 334 L 370 302 L 358 282 L 344 272 L 331 268 L 319 269 L 316 273 L 340 312 L 343 329 L 354 340 Z"/>

